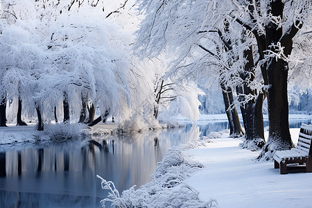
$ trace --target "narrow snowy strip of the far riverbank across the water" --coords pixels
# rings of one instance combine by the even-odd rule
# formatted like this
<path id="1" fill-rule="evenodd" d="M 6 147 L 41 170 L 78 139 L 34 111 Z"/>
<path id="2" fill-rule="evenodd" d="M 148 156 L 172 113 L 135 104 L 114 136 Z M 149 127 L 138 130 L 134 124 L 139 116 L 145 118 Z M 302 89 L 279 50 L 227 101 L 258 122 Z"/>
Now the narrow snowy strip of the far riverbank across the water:
<path id="1" fill-rule="evenodd" d="M 266 117 L 264 118 L 266 121 Z M 305 114 L 290 114 L 290 121 L 310 120 L 312 121 L 312 115 Z M 179 128 L 189 123 L 214 123 L 214 122 L 227 122 L 226 114 L 202 114 L 198 121 L 189 121 L 177 117 L 176 121 L 159 121 L 159 125 L 154 127 L 145 128 L 144 130 L 157 130 L 166 128 Z M 0 146 L 14 146 L 19 144 L 32 144 L 37 142 L 51 141 L 60 136 L 60 139 L 73 139 L 79 137 L 80 132 L 82 135 L 113 135 L 119 132 L 119 124 L 117 123 L 99 123 L 92 128 L 88 128 L 87 125 L 81 123 L 71 123 L 65 125 L 64 123 L 49 123 L 45 125 L 45 130 L 38 132 L 35 123 L 28 123 L 26 126 L 15 126 L 15 123 L 9 123 L 8 127 L 0 127 Z M 124 130 L 124 132 L 141 132 L 144 130 Z M 64 134 L 65 135 L 62 135 Z"/>

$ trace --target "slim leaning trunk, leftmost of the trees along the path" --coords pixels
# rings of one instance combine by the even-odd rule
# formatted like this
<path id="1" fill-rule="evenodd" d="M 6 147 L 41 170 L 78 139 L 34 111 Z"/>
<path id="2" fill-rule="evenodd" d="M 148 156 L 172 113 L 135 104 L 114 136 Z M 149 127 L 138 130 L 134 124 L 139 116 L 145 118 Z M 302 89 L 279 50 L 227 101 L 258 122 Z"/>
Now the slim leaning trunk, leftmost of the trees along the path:
<path id="1" fill-rule="evenodd" d="M 225 87 L 220 83 L 223 101 L 225 103 L 225 112 L 227 114 L 227 120 L 229 121 L 229 135 L 234 138 L 242 137 L 244 135 L 241 123 L 239 122 L 239 114 L 234 106 L 233 92 L 230 87 Z"/>

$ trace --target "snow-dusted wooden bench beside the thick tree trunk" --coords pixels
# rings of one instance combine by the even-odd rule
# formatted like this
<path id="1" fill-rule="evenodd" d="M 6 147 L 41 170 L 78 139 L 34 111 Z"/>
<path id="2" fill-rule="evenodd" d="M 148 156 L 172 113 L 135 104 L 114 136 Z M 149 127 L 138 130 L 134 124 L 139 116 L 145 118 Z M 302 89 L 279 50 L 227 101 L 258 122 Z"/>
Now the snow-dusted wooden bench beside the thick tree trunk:
<path id="1" fill-rule="evenodd" d="M 279 168 L 281 174 L 295 172 L 312 172 L 311 158 L 312 125 L 302 124 L 297 148 L 276 151 L 273 156 L 274 168 Z"/>

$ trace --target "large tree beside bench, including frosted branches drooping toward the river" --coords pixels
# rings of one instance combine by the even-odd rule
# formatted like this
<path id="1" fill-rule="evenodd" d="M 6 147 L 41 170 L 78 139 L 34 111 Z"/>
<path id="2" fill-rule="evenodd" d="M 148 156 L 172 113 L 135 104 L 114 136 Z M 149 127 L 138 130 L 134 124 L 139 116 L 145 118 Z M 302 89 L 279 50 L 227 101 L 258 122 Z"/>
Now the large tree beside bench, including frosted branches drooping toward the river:
<path id="1" fill-rule="evenodd" d="M 257 46 L 254 47 L 254 67 L 261 69 L 263 77 L 263 86 L 254 85 L 254 82 L 249 85 L 257 92 L 268 92 L 269 139 L 260 157 L 270 158 L 275 150 L 293 146 L 288 130 L 288 56 L 291 55 L 293 38 L 297 32 L 303 26 L 309 25 L 307 19 L 311 15 L 311 1 L 139 1 L 139 3 L 141 11 L 146 13 L 146 19 L 138 33 L 139 50 L 153 56 L 166 49 L 168 53 L 175 54 L 176 63 L 183 62 L 184 66 L 191 64 L 185 60 L 198 53 L 198 46 L 205 46 L 204 44 L 209 41 L 212 44 L 205 47 L 207 53 L 218 55 L 216 52 L 220 50 L 220 46 L 216 46 L 216 41 L 211 41 L 214 40 L 211 34 L 218 31 L 223 33 L 224 44 L 235 47 L 235 55 L 243 56 L 246 47 L 235 46 L 243 33 L 235 33 L 235 30 L 224 32 L 225 28 L 236 28 L 236 31 L 247 30 L 250 34 L 248 37 L 252 38 L 253 44 Z M 242 69 L 245 64 L 240 64 L 235 69 L 228 65 L 228 62 L 238 60 L 235 56 L 222 60 L 223 58 L 218 55 L 217 59 L 218 62 L 209 61 L 209 64 L 203 65 L 210 67 L 217 65 L 219 70 L 221 67 L 231 69 L 224 70 L 229 72 L 224 74 L 229 80 L 234 80 L 232 82 L 234 85 L 239 85 L 240 82 L 236 81 L 238 76 L 233 74 L 238 73 L 237 70 Z M 220 66 L 220 60 L 223 66 Z M 176 72 L 176 69 L 180 68 L 173 69 Z M 218 73 L 214 71 L 211 75 L 214 74 Z M 250 98 L 252 97 L 254 96 L 251 94 Z"/>

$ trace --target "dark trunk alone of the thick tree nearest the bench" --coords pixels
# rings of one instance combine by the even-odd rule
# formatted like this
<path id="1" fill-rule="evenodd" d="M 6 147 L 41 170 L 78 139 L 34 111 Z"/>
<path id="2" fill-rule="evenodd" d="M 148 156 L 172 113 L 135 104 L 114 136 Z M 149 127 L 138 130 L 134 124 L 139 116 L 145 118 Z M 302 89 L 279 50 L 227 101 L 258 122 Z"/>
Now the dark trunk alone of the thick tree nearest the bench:
<path id="1" fill-rule="evenodd" d="M 283 17 L 284 3 L 281 0 L 270 3 L 271 14 L 275 17 Z M 272 21 L 266 26 L 266 46 L 270 51 L 279 52 L 277 45 L 281 40 L 282 28 Z M 284 54 L 290 55 L 292 50 L 292 40 L 284 48 Z M 291 134 L 288 123 L 288 94 L 287 78 L 288 63 L 279 58 L 270 58 L 267 62 L 268 75 L 268 119 L 269 137 L 263 147 L 259 158 L 270 159 L 275 150 L 288 150 L 292 148 Z"/>

